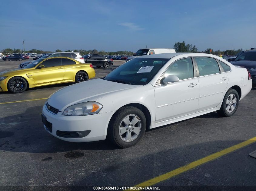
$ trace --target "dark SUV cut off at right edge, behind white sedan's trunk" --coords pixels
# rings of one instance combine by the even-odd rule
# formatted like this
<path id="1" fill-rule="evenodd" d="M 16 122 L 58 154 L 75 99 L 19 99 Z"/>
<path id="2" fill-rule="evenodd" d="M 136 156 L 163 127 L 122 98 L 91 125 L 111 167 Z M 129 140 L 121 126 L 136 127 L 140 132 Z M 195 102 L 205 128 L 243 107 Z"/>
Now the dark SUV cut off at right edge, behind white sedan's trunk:
<path id="1" fill-rule="evenodd" d="M 256 87 L 256 48 L 244 51 L 230 63 L 236 66 L 244 66 L 251 74 L 252 87 Z"/>

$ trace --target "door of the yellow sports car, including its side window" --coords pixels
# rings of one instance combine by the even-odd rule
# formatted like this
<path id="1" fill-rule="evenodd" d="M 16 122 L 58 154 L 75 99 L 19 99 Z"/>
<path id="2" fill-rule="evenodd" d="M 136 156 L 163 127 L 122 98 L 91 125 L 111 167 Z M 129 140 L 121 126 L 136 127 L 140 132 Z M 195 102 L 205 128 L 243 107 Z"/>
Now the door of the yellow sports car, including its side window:
<path id="1" fill-rule="evenodd" d="M 62 66 L 61 58 L 46 59 L 41 64 L 45 68 L 36 68 L 33 71 L 35 84 L 46 84 L 63 81 L 65 68 Z"/>

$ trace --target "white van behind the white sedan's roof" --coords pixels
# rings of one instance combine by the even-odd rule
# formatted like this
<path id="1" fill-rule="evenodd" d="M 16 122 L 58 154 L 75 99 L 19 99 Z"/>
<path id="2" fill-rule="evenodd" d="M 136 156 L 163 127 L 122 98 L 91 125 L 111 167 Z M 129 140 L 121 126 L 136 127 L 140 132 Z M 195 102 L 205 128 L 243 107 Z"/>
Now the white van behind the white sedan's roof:
<path id="1" fill-rule="evenodd" d="M 163 54 L 163 53 L 176 53 L 175 49 L 172 48 L 145 48 L 139 49 L 133 56 L 130 56 L 126 59 L 126 62 L 136 58 L 138 56 L 144 56 L 149 54 Z"/>

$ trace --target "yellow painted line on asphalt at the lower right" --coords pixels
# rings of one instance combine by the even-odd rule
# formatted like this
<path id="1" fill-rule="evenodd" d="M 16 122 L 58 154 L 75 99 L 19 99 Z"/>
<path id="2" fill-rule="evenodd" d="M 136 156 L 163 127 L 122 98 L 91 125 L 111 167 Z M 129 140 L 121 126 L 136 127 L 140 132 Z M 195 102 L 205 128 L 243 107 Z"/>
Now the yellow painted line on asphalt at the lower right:
<path id="1" fill-rule="evenodd" d="M 191 162 L 191 163 L 189 163 L 189 164 L 187 164 L 185 166 L 179 167 L 179 168 L 177 168 L 175 170 L 172 170 L 172 171 L 170 171 L 168 173 L 162 174 L 162 175 L 160 175 L 158 177 L 155 177 L 155 178 L 152 178 L 152 179 L 147 180 L 145 182 L 142 182 L 142 183 L 140 183 L 140 184 L 138 184 L 136 186 L 141 186 L 142 188 L 145 188 L 146 186 L 153 186 L 153 185 L 155 185 L 155 184 L 157 184 L 159 182 L 162 182 L 164 180 L 170 179 L 170 178 L 172 178 L 172 177 L 174 177 L 176 175 L 184 173 L 184 172 L 186 172 L 188 170 L 191 170 L 191 169 L 193 169 L 195 167 L 198 167 L 198 166 L 200 166 L 200 165 L 202 165 L 204 163 L 207 163 L 209 161 L 213 161 L 213 160 L 215 160 L 215 159 L 217 159 L 217 158 L 219 158 L 219 157 L 221 157 L 221 156 L 223 156 L 225 154 L 228 154 L 228 153 L 231 153 L 233 151 L 236 151 L 236 150 L 238 150 L 238 149 L 240 149 L 242 147 L 245 147 L 247 145 L 250 145 L 250 144 L 252 144 L 254 142 L 256 142 L 256 137 L 253 137 L 253 138 L 251 138 L 251 139 L 249 139 L 247 141 L 241 142 L 241 143 L 239 143 L 237 145 L 234 145 L 232 147 L 229 147 L 229 148 L 226 148 L 226 149 L 221 150 L 219 152 L 216 152 L 214 154 L 211 154 L 211 155 L 209 155 L 207 157 L 201 158 L 201 159 L 199 159 L 197 161 Z"/>

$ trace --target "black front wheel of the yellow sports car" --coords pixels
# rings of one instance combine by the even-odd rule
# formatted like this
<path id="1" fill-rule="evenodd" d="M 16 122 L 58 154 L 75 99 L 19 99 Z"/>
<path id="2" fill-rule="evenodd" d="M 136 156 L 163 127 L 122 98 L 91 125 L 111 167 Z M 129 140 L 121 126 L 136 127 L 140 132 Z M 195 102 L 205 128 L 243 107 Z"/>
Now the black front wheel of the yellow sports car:
<path id="1" fill-rule="evenodd" d="M 13 77 L 7 83 L 10 92 L 17 94 L 22 93 L 28 88 L 27 81 L 22 77 Z"/>

